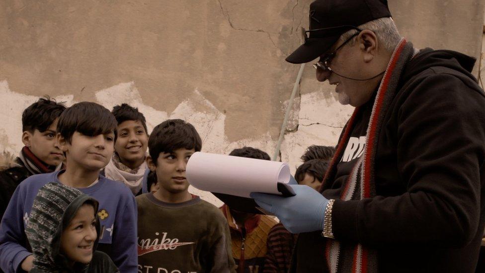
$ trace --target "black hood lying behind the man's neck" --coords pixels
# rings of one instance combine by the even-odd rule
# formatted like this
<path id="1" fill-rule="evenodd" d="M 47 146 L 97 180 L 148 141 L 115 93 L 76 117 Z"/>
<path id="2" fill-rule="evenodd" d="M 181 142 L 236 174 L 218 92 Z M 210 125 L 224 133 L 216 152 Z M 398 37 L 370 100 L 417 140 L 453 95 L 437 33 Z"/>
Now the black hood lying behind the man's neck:
<path id="1" fill-rule="evenodd" d="M 402 81 L 406 82 L 409 78 L 431 67 L 446 67 L 460 72 L 463 74 L 462 77 L 477 83 L 477 79 L 471 73 L 475 61 L 475 58 L 460 52 L 425 48 L 420 50 L 408 63 L 404 69 Z"/>

